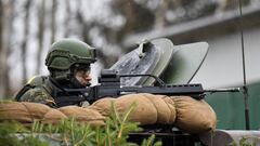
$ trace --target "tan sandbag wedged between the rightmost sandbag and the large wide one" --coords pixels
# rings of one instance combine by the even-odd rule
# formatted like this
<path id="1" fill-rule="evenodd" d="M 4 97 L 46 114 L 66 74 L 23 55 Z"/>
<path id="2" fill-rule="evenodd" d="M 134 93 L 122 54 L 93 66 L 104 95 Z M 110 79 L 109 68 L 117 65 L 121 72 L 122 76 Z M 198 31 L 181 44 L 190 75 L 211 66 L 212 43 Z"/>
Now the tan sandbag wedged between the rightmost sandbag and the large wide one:
<path id="1" fill-rule="evenodd" d="M 157 110 L 157 121 L 156 123 L 171 124 L 176 120 L 176 108 L 172 104 L 172 99 L 170 99 L 166 95 L 155 95 L 142 93 L 146 98 L 148 98 L 155 106 Z M 171 101 L 171 103 L 167 99 Z"/>

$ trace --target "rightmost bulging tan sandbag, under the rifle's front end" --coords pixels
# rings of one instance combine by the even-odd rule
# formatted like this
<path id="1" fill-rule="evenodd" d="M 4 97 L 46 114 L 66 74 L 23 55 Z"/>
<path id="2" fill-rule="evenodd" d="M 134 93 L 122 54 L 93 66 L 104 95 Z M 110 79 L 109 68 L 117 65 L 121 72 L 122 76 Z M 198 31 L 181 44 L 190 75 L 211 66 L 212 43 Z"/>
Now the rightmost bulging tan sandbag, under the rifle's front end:
<path id="1" fill-rule="evenodd" d="M 190 96 L 171 97 L 176 104 L 176 125 L 188 133 L 200 133 L 216 129 L 217 116 L 205 102 Z"/>

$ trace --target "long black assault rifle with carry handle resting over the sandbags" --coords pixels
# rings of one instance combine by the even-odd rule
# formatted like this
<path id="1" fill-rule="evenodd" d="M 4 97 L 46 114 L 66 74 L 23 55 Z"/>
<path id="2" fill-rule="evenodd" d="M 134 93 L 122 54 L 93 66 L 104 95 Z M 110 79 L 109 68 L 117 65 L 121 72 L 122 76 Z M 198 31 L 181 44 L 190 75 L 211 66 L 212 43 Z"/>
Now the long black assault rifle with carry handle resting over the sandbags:
<path id="1" fill-rule="evenodd" d="M 121 87 L 120 78 L 123 77 L 152 77 L 157 81 L 158 85 L 133 85 Z M 219 90 L 204 90 L 203 85 L 196 84 L 165 84 L 162 80 L 153 75 L 118 75 L 115 70 L 103 70 L 99 78 L 99 84 L 94 87 L 88 87 L 83 89 L 64 89 L 62 96 L 55 97 L 55 102 L 58 107 L 67 105 L 76 105 L 83 101 L 88 101 L 90 104 L 103 98 L 103 97 L 118 97 L 125 94 L 133 93 L 151 93 L 162 94 L 171 96 L 187 95 L 195 99 L 202 99 L 205 97 L 206 92 L 238 92 L 238 88 L 233 89 L 219 89 Z"/>

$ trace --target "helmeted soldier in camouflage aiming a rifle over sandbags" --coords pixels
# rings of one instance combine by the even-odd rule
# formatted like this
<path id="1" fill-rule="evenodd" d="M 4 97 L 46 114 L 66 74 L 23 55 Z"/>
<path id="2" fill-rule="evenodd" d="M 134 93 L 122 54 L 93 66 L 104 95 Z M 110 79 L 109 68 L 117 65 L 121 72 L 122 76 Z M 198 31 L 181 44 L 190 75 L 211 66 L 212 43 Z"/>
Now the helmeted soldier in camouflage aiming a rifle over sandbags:
<path id="1" fill-rule="evenodd" d="M 64 89 L 90 85 L 90 64 L 94 62 L 94 48 L 78 40 L 60 40 L 51 45 L 46 58 L 50 75 L 31 78 L 15 95 L 15 99 L 61 107 L 63 105 L 56 103 L 55 98 L 66 95 Z"/>

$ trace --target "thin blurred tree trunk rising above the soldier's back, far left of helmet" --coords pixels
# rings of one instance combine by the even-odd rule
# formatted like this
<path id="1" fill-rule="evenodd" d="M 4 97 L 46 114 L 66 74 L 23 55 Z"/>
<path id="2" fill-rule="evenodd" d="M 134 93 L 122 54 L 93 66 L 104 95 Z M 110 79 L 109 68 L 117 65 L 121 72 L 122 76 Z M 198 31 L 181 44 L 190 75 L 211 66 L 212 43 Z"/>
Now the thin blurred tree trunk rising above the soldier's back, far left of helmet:
<path id="1" fill-rule="evenodd" d="M 31 0 L 27 0 L 25 2 L 25 18 L 24 18 L 24 38 L 23 38 L 23 42 L 22 42 L 22 80 L 23 83 L 25 84 L 27 81 L 27 42 L 28 42 L 28 38 L 29 38 L 29 13 L 30 13 L 30 4 L 31 4 Z"/>

